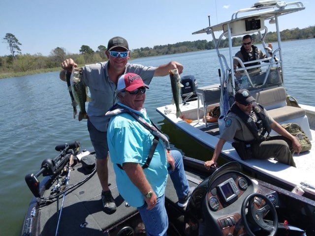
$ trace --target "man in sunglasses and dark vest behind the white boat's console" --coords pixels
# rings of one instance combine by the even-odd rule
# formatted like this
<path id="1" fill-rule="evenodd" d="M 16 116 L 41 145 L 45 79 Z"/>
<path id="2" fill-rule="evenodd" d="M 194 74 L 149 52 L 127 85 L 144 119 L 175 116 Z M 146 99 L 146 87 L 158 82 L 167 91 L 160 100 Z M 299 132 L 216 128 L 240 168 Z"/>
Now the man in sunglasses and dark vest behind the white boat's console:
<path id="1" fill-rule="evenodd" d="M 241 50 L 235 54 L 235 57 L 240 58 L 243 62 L 267 58 L 266 54 L 264 54 L 256 46 L 252 45 L 252 36 L 251 35 L 246 34 L 243 37 L 242 42 L 243 42 L 243 45 L 241 47 Z M 272 50 L 272 44 L 271 43 L 268 43 L 268 48 L 270 48 Z M 250 64 L 246 64 L 245 66 L 248 67 L 248 66 L 258 65 L 258 64 L 260 64 L 260 62 L 253 62 Z M 234 71 L 236 70 L 237 67 L 240 67 L 240 66 L 241 66 L 240 63 L 236 59 L 234 59 L 233 60 Z M 260 71 L 259 67 L 248 69 L 249 73 L 251 73 L 251 72 L 254 73 L 254 72 L 259 72 L 259 71 Z M 235 74 L 239 76 L 241 74 L 240 72 L 243 72 L 243 71 L 235 71 Z"/>

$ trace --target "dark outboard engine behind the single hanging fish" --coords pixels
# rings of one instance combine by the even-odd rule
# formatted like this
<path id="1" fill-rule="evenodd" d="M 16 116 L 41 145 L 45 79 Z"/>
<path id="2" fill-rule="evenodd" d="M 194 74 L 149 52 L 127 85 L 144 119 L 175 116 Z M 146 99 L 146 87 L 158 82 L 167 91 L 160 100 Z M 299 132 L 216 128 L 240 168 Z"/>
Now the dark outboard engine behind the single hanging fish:
<path id="1" fill-rule="evenodd" d="M 192 101 L 197 99 L 197 81 L 193 75 L 185 75 L 181 77 L 181 96 L 184 101 Z"/>

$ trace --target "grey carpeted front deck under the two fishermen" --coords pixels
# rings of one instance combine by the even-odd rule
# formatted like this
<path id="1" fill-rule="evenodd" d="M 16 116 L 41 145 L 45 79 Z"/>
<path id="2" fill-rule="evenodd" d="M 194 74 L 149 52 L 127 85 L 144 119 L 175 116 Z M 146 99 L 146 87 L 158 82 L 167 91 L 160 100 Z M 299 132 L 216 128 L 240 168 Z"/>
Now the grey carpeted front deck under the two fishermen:
<path id="1" fill-rule="evenodd" d="M 118 231 L 122 228 L 122 221 L 126 221 L 126 225 L 138 225 L 141 223 L 141 217 L 134 207 L 129 207 L 126 201 L 118 193 L 118 189 L 115 181 L 115 173 L 113 171 L 113 165 L 109 161 L 109 183 L 110 190 L 115 199 L 117 210 L 112 214 L 107 214 L 102 210 L 101 203 L 101 186 L 97 177 L 97 174 L 83 183 L 80 187 L 70 191 L 64 200 L 63 212 L 59 226 L 59 235 L 80 235 L 80 236 L 97 236 L 104 235 L 106 232 L 108 235 L 116 236 Z M 203 178 L 201 176 L 194 175 L 186 172 L 189 179 L 189 186 L 197 186 Z M 72 184 L 76 184 L 89 173 L 82 167 L 81 163 L 77 163 L 74 169 L 70 172 L 70 179 L 68 187 Z M 50 194 L 54 185 L 50 187 L 50 190 L 46 191 L 47 196 Z M 184 214 L 184 209 L 177 206 L 177 195 L 173 187 L 170 178 L 167 182 L 166 189 L 166 205 L 172 207 L 172 212 L 169 214 L 177 214 L 176 217 Z M 62 196 L 60 196 L 59 208 L 62 204 Z M 36 202 L 34 198 L 32 204 Z M 38 220 L 37 228 L 40 229 L 41 235 L 55 235 L 58 214 L 57 214 L 58 201 L 43 201 L 41 207 L 38 209 L 37 214 L 40 214 L 40 220 Z M 33 219 L 28 219 L 31 222 Z M 120 227 L 117 225 L 120 224 Z M 139 224 L 141 226 L 141 224 Z M 26 226 L 27 227 L 27 226 Z M 170 226 L 176 227 L 176 226 Z M 136 227 L 132 227 L 136 228 Z M 141 228 L 141 227 L 140 227 Z"/>

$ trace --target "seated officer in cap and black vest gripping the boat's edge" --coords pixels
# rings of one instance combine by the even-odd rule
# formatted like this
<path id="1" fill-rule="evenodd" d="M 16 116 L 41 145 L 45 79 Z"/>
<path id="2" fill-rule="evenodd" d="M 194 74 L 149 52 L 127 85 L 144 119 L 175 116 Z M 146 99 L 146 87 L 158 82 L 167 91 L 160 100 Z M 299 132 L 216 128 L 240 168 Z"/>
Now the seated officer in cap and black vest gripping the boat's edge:
<path id="1" fill-rule="evenodd" d="M 205 168 L 217 165 L 217 160 L 226 141 L 234 142 L 232 146 L 243 159 L 268 159 L 295 166 L 290 151 L 300 153 L 300 142 L 278 122 L 271 118 L 247 89 L 240 89 L 235 94 L 235 103 L 226 115 L 225 127 L 216 145 L 212 159 L 205 162 Z M 269 136 L 273 129 L 282 136 Z M 265 134 L 268 134 L 265 137 Z"/>

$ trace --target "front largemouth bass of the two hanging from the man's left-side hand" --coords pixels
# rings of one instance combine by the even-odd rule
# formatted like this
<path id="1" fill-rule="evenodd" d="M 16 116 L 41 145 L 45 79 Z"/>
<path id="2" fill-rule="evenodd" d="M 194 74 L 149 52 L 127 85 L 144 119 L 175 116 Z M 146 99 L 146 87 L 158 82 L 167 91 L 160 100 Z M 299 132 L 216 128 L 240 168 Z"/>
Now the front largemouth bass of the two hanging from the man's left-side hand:
<path id="1" fill-rule="evenodd" d="M 82 79 L 83 78 L 81 69 L 73 67 L 70 77 L 70 84 L 74 100 L 77 102 L 80 108 L 78 116 L 79 121 L 88 118 L 88 114 L 85 110 L 85 102 L 90 100 L 89 97 L 87 96 L 88 88 L 84 86 Z"/>

